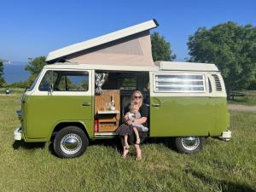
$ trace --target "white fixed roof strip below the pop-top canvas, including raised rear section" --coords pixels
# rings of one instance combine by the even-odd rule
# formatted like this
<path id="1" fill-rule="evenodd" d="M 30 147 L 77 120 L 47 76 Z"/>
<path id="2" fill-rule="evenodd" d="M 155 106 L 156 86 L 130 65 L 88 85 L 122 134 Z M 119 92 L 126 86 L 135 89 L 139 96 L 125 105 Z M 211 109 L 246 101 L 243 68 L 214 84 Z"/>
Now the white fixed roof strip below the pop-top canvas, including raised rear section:
<path id="1" fill-rule="evenodd" d="M 138 72 L 154 72 L 154 71 L 198 71 L 198 72 L 218 72 L 218 67 L 214 64 L 195 63 L 195 62 L 177 62 L 177 61 L 155 61 L 154 67 L 130 66 L 130 65 L 97 65 L 97 64 L 81 64 L 72 62 L 56 62 L 47 65 L 48 69 L 96 69 L 110 71 L 138 71 Z"/>

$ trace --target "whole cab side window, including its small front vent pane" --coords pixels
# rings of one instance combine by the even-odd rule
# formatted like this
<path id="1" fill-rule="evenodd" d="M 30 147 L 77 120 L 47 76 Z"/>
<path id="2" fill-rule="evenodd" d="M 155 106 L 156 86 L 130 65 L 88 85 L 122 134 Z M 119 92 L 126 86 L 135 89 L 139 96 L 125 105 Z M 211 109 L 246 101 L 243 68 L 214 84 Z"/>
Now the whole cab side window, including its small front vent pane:
<path id="1" fill-rule="evenodd" d="M 87 91 L 89 74 L 79 71 L 48 71 L 39 85 L 39 90 L 49 90 L 50 84 L 54 91 Z"/>

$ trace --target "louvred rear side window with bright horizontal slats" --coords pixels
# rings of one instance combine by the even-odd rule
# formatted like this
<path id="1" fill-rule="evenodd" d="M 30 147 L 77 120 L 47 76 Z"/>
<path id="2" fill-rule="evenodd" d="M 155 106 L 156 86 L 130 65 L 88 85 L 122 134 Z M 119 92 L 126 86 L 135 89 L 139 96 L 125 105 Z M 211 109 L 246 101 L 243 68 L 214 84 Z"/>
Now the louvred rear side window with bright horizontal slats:
<path id="1" fill-rule="evenodd" d="M 205 77 L 202 74 L 154 74 L 154 92 L 206 92 Z"/>

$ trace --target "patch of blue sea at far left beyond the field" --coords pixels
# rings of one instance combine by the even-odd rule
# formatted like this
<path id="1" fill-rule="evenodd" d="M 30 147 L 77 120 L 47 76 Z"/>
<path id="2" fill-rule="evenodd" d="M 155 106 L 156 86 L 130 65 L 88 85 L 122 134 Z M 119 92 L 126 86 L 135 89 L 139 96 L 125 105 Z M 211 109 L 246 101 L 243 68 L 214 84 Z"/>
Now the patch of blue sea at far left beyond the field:
<path id="1" fill-rule="evenodd" d="M 25 81 L 29 78 L 30 73 L 25 70 L 27 62 L 12 61 L 3 63 L 3 78 L 9 83 Z"/>

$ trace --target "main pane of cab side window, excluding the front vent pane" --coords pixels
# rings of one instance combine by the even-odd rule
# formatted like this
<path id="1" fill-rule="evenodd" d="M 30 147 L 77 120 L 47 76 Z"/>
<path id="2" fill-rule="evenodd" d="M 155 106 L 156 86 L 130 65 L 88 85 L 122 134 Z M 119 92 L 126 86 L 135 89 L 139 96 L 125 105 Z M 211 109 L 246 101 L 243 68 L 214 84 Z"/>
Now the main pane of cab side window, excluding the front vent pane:
<path id="1" fill-rule="evenodd" d="M 89 74 L 87 72 L 58 72 L 55 91 L 87 91 Z"/>

